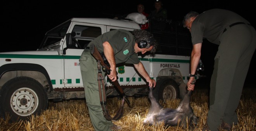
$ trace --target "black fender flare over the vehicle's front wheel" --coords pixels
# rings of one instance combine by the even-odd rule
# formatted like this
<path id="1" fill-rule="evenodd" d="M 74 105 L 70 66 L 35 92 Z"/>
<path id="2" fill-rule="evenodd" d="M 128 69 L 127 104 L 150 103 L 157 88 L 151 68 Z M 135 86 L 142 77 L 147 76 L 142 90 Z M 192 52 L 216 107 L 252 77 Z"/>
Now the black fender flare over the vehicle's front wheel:
<path id="1" fill-rule="evenodd" d="M 49 76 L 48 72 L 46 71 L 46 69 L 41 65 L 31 64 L 31 63 L 5 64 L 0 67 L 0 78 L 3 76 L 3 74 L 5 72 L 8 72 L 8 71 L 38 71 L 38 72 L 41 72 L 42 74 L 45 75 L 45 77 L 49 83 L 50 90 L 53 91 L 52 81 L 50 79 L 50 76 Z"/>

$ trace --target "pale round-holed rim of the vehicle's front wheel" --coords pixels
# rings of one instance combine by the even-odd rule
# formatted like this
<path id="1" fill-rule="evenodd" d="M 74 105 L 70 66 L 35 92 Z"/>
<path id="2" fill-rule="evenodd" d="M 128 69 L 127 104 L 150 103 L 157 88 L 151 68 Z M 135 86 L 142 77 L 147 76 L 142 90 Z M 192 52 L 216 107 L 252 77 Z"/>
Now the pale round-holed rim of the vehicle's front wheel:
<path id="1" fill-rule="evenodd" d="M 38 96 L 29 88 L 20 88 L 10 99 L 12 111 L 20 116 L 33 114 L 38 107 Z"/>

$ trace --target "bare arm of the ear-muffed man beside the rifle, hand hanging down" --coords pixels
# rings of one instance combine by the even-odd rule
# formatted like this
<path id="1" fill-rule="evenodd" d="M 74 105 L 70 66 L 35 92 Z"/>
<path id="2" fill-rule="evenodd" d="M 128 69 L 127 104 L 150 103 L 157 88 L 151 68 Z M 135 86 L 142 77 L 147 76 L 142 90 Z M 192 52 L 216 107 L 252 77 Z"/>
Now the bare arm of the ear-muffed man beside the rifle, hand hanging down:
<path id="1" fill-rule="evenodd" d="M 117 74 L 116 74 L 116 60 L 114 57 L 114 50 L 109 44 L 109 42 L 104 42 L 102 45 L 103 45 L 104 55 L 106 56 L 106 59 L 109 62 L 110 69 L 111 69 L 110 74 L 107 76 L 112 81 L 116 81 Z"/>

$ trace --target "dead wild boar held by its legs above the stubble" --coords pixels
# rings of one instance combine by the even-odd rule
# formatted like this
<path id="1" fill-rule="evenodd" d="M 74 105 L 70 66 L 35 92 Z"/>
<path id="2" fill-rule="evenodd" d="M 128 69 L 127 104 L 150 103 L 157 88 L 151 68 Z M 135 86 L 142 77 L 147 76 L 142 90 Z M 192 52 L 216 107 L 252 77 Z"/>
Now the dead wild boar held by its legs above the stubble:
<path id="1" fill-rule="evenodd" d="M 144 124 L 156 124 L 164 122 L 166 126 L 182 125 L 187 128 L 187 121 L 189 122 L 189 129 L 194 129 L 197 126 L 197 117 L 194 115 L 193 109 L 190 107 L 190 96 L 192 91 L 187 91 L 177 109 L 163 108 L 156 98 L 153 96 L 153 89 L 149 90 L 149 99 L 151 106 Z"/>

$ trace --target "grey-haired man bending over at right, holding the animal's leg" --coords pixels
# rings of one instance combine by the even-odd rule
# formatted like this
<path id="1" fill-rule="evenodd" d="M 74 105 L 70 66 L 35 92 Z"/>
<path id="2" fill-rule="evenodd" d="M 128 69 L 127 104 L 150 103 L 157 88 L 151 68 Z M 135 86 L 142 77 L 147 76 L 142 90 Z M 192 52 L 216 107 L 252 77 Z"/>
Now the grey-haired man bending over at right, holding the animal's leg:
<path id="1" fill-rule="evenodd" d="M 238 123 L 236 109 L 256 48 L 256 31 L 246 19 L 224 9 L 201 14 L 189 12 L 183 26 L 189 29 L 193 44 L 188 90 L 195 87 L 191 82 L 201 57 L 203 39 L 219 45 L 211 76 L 207 125 L 202 130 L 230 130 L 232 124 Z"/>

